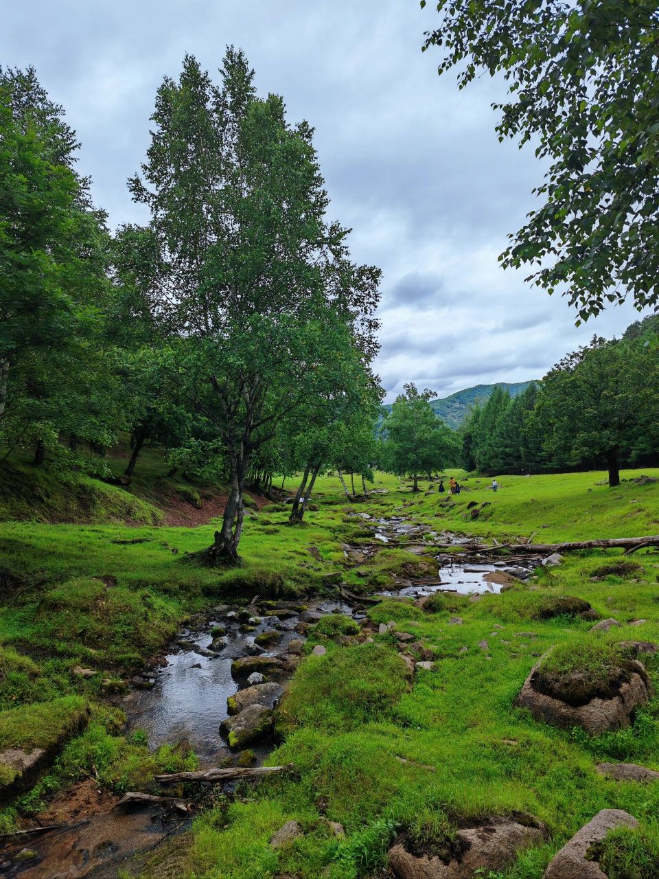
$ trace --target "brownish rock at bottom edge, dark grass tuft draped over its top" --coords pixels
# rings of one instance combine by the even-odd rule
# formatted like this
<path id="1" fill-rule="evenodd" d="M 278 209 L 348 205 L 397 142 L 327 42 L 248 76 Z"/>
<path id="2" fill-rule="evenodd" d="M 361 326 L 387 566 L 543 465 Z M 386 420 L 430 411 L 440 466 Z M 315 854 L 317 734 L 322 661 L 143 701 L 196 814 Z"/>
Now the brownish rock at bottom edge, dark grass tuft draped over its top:
<path id="1" fill-rule="evenodd" d="M 460 861 L 452 858 L 445 863 L 436 856 L 410 854 L 403 843 L 398 843 L 389 849 L 389 867 L 397 879 L 472 879 L 477 870 L 487 874 L 510 867 L 520 850 L 539 845 L 545 836 L 540 826 L 489 817 L 478 827 L 458 831 Z"/>

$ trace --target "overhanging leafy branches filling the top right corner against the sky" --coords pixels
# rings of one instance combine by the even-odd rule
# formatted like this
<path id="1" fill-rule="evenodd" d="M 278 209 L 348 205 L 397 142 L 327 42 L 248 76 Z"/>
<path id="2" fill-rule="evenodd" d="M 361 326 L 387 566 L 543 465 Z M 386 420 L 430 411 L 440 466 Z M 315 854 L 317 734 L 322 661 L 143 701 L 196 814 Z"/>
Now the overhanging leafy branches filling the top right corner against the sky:
<path id="1" fill-rule="evenodd" d="M 422 7 L 425 0 L 421 0 Z M 499 140 L 537 144 L 544 199 L 511 236 L 504 266 L 565 291 L 579 320 L 607 301 L 659 301 L 659 11 L 639 0 L 438 0 L 439 73 L 460 88 L 503 74 Z"/>

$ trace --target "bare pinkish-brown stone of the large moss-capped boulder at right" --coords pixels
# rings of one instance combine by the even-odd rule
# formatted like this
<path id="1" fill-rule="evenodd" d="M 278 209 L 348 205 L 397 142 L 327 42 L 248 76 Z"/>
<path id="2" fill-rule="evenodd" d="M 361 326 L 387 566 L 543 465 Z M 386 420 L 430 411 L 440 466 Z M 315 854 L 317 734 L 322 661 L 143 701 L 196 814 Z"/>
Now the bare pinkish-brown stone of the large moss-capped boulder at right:
<path id="1" fill-rule="evenodd" d="M 591 735 L 608 730 L 620 730 L 631 723 L 634 708 L 644 705 L 650 696 L 648 673 L 640 662 L 632 660 L 635 669 L 629 679 L 619 685 L 618 693 L 612 698 L 595 696 L 584 705 L 569 705 L 554 696 L 539 693 L 533 680 L 540 669 L 540 663 L 533 666 L 531 673 L 515 700 L 518 708 L 528 708 L 536 720 L 544 720 L 551 726 L 571 729 L 581 726 Z"/>

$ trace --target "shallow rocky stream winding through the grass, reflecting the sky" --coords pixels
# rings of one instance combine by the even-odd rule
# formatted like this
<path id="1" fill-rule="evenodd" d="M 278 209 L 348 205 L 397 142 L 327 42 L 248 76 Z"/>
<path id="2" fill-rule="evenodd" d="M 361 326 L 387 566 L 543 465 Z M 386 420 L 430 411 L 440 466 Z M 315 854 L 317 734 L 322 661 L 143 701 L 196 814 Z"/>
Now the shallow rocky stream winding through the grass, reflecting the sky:
<path id="1" fill-rule="evenodd" d="M 374 519 L 368 513 L 355 516 L 373 530 L 377 542 L 359 547 L 344 545 L 344 555 L 351 566 L 363 563 L 383 544 L 395 544 L 415 555 L 426 556 L 433 541 L 446 541 L 446 533 L 438 534 L 402 517 L 385 520 Z M 451 536 L 456 544 L 467 541 Z M 523 566 L 512 566 L 474 556 L 469 556 L 468 561 L 456 561 L 455 556 L 446 553 L 435 557 L 436 578 L 396 578 L 390 589 L 376 594 L 416 598 L 447 590 L 464 594 L 500 592 L 511 576 L 525 579 L 537 563 L 525 560 Z M 176 743 L 190 746 L 199 757 L 200 768 L 218 766 L 227 760 L 235 762 L 237 753 L 221 737 L 220 724 L 228 717 L 228 698 L 250 682 L 240 675 L 236 679 L 232 673 L 234 660 L 257 655 L 284 656 L 286 668 L 275 679 L 285 686 L 299 661 L 309 624 L 323 614 L 350 614 L 358 620 L 364 617 L 358 606 L 353 608 L 336 599 L 278 601 L 274 607 L 257 602 L 257 606 L 263 614 L 252 614 L 244 607 L 218 606 L 199 614 L 179 632 L 166 655 L 133 679 L 136 686 L 120 699 L 119 708 L 127 715 L 127 735 L 144 730 L 151 748 Z M 217 633 L 217 627 L 221 627 L 222 634 Z M 265 632 L 276 632 L 276 643 L 259 646 L 257 637 Z M 272 750 L 272 740 L 250 748 L 261 763 Z M 116 809 L 118 799 L 117 795 L 98 789 L 93 779 L 78 782 L 57 795 L 40 815 L 40 822 L 62 823 L 66 827 L 27 837 L 22 850 L 13 845 L 9 852 L 0 851 L 0 876 L 115 879 L 119 869 L 129 868 L 136 854 L 148 852 L 190 824 L 190 818 L 169 814 L 159 804 Z"/>

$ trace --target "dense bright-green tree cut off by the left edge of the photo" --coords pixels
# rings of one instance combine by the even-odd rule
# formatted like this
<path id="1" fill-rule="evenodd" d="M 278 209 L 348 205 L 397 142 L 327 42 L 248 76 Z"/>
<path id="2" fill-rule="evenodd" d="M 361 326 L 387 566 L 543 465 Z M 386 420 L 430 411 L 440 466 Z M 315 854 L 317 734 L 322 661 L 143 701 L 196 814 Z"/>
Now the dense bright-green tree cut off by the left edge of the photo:
<path id="1" fill-rule="evenodd" d="M 37 463 L 62 433 L 112 443 L 121 418 L 105 214 L 62 114 L 33 69 L 0 69 L 0 438 Z"/>

